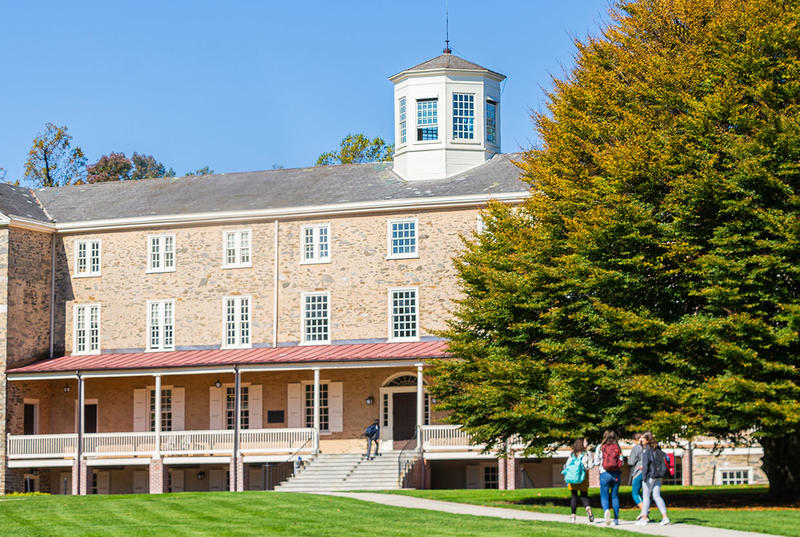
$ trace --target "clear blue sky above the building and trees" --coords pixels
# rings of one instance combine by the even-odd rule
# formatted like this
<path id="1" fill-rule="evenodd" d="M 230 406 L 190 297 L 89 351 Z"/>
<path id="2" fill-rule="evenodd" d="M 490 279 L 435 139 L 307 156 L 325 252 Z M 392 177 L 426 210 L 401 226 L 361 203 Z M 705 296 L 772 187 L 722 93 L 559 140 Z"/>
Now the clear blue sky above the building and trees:
<path id="1" fill-rule="evenodd" d="M 607 0 L 450 0 L 454 54 L 506 76 L 504 152 L 535 141 L 551 74 Z M 388 77 L 437 56 L 444 0 L 3 2 L 0 167 L 21 178 L 46 122 L 94 162 L 152 154 L 178 174 L 313 165 L 348 132 L 393 141 Z"/>

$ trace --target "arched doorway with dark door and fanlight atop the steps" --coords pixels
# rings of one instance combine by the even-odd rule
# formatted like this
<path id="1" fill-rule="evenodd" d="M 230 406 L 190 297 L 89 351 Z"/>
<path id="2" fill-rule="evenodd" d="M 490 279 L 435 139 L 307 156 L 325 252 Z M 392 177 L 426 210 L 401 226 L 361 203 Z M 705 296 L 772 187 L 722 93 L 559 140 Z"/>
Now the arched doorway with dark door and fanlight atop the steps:
<path id="1" fill-rule="evenodd" d="M 424 387 L 423 387 L 424 390 Z M 424 396 L 424 423 L 428 423 L 428 394 Z M 386 379 L 380 388 L 381 448 L 403 449 L 417 429 L 417 375 L 403 372 Z M 411 442 L 413 444 L 413 442 Z"/>

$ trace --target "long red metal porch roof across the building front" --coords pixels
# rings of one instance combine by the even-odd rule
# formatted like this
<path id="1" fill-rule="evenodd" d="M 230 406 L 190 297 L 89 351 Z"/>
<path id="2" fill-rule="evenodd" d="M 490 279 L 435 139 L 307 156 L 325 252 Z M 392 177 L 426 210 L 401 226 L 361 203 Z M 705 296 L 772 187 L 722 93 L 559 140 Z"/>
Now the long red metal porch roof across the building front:
<path id="1" fill-rule="evenodd" d="M 237 350 L 137 352 L 62 356 L 41 360 L 24 367 L 9 369 L 14 373 L 54 373 L 63 371 L 97 371 L 114 369 L 161 369 L 240 364 L 290 364 L 319 362 L 352 362 L 373 360 L 411 360 L 444 358 L 446 341 L 413 343 L 359 343 L 351 345 L 317 345 L 302 347 L 269 347 Z"/>

